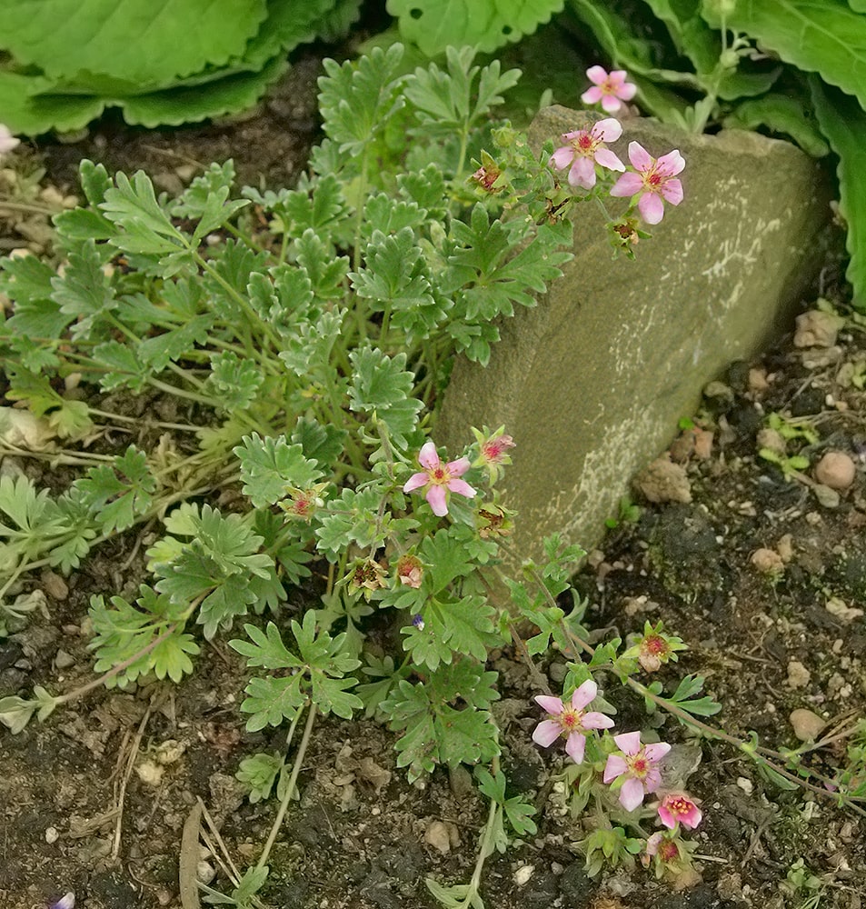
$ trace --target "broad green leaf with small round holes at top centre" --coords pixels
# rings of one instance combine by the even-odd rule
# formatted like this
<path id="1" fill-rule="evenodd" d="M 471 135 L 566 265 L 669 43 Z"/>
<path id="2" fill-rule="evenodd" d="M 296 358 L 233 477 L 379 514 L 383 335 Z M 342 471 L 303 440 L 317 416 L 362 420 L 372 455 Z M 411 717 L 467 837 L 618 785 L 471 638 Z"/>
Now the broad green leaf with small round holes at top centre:
<path id="1" fill-rule="evenodd" d="M 532 35 L 563 0 L 388 0 L 388 12 L 399 19 L 400 34 L 427 56 L 448 45 L 472 45 L 491 53 L 509 41 Z"/>

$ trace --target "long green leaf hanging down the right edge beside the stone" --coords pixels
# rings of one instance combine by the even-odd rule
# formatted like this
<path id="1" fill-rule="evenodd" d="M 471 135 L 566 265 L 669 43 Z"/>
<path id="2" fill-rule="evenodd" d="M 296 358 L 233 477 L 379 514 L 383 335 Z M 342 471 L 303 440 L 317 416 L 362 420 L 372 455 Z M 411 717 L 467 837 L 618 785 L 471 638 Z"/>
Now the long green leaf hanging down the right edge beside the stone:
<path id="1" fill-rule="evenodd" d="M 845 245 L 851 262 L 845 276 L 851 282 L 854 305 L 866 310 L 866 114 L 849 95 L 810 80 L 815 114 L 821 132 L 839 155 L 839 210 L 848 225 Z"/>

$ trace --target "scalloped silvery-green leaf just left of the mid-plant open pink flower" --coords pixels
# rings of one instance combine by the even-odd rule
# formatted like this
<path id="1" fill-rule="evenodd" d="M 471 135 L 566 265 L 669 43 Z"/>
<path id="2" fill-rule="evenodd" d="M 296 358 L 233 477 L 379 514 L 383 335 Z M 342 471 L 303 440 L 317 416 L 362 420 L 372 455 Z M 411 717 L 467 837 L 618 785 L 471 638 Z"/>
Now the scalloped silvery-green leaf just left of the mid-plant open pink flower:
<path id="1" fill-rule="evenodd" d="M 322 476 L 318 465 L 304 457 L 303 446 L 289 445 L 284 435 L 244 435 L 244 444 L 233 451 L 241 462 L 244 494 L 256 508 L 284 499 L 290 486 L 305 489 Z"/>

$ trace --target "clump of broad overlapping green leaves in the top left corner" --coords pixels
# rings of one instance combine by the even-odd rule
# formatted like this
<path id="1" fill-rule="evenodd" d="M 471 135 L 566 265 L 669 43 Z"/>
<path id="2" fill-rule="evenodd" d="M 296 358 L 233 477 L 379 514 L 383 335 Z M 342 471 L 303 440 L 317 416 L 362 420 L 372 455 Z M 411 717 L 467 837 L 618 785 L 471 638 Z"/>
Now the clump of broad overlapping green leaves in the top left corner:
<path id="1" fill-rule="evenodd" d="M 345 35 L 361 0 L 59 0 L 4 5 L 0 122 L 80 129 L 108 107 L 129 124 L 196 123 L 251 107 L 286 55 Z"/>

